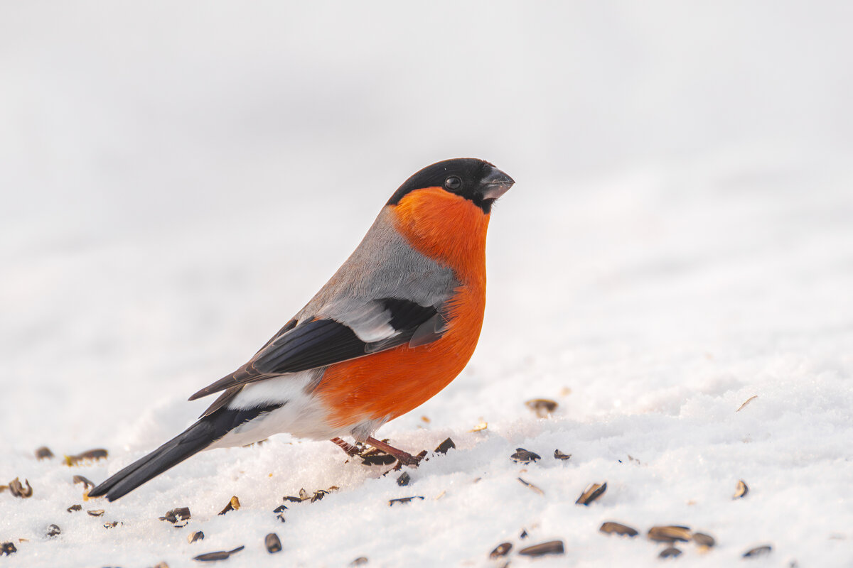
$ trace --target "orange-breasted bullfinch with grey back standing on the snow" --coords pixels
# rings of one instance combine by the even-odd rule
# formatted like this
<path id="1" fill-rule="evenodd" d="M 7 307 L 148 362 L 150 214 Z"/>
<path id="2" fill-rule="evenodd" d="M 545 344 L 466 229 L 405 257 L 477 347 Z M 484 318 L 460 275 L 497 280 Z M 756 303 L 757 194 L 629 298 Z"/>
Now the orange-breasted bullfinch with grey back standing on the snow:
<path id="1" fill-rule="evenodd" d="M 328 283 L 252 359 L 194 393 L 219 393 L 198 422 L 97 485 L 114 501 L 201 450 L 276 433 L 328 439 L 350 455 L 372 445 L 415 467 L 419 456 L 374 433 L 461 373 L 485 313 L 491 209 L 514 185 L 478 158 L 431 164 L 380 209 Z"/>

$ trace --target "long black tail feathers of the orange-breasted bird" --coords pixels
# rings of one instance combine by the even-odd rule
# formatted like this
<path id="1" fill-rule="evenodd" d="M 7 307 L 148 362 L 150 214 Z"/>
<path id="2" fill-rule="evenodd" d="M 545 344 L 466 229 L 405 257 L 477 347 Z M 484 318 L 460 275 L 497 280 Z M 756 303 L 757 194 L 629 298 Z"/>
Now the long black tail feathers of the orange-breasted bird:
<path id="1" fill-rule="evenodd" d="M 148 456 L 119 471 L 89 492 L 90 497 L 107 496 L 109 501 L 115 501 L 135 490 L 143 483 L 154 479 L 165 470 L 177 466 L 189 456 L 192 456 L 226 433 L 258 415 L 275 410 L 279 405 L 262 406 L 247 410 L 220 409 L 210 416 L 205 416 L 199 422 L 179 433 L 175 438 L 152 451 Z"/>

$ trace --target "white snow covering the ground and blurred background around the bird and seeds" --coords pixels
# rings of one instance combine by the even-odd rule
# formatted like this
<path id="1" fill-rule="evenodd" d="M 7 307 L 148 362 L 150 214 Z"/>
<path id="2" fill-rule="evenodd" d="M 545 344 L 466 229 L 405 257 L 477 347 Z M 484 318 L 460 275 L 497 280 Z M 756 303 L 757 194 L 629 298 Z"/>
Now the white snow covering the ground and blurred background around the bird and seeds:
<path id="1" fill-rule="evenodd" d="M 0 494 L 18 549 L 0 564 L 175 568 L 245 545 L 219 565 L 490 566 L 512 542 L 514 566 L 654 566 L 645 534 L 674 524 L 717 540 L 678 565 L 850 565 L 848 3 L 3 13 L 0 484 L 33 496 Z M 380 430 L 456 449 L 401 487 L 280 435 L 82 501 L 73 475 L 100 482 L 192 422 L 207 401 L 187 396 L 302 307 L 403 179 L 470 155 L 518 182 L 492 215 L 478 351 Z M 539 419 L 534 398 L 560 405 Z M 388 506 L 404 496 L 425 498 Z M 177 507 L 188 526 L 159 520 Z M 554 539 L 564 555 L 517 554 Z"/>

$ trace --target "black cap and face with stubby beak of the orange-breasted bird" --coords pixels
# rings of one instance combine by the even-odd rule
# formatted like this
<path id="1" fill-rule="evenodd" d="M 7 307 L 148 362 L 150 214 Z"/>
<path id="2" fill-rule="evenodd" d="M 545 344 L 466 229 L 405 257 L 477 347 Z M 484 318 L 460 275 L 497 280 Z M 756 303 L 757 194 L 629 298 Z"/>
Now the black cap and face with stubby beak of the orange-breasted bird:
<path id="1" fill-rule="evenodd" d="M 513 178 L 485 160 L 453 158 L 428 165 L 412 175 L 394 192 L 388 204 L 398 204 L 407 193 L 416 189 L 441 187 L 446 192 L 471 200 L 485 213 L 489 213 L 491 205 L 514 183 Z"/>

